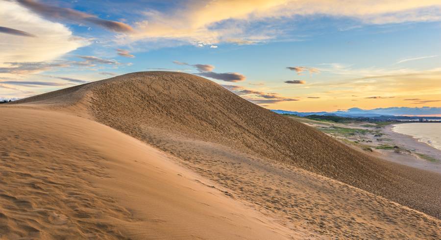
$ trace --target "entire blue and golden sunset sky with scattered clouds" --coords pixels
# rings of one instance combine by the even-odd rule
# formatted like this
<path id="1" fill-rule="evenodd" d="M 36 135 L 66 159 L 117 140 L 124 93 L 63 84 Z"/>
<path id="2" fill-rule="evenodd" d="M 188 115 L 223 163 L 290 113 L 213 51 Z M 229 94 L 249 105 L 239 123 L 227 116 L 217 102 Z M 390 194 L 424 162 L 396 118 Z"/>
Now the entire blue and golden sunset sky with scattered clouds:
<path id="1" fill-rule="evenodd" d="M 0 99 L 140 71 L 268 109 L 441 116 L 441 1 L 0 0 Z"/>

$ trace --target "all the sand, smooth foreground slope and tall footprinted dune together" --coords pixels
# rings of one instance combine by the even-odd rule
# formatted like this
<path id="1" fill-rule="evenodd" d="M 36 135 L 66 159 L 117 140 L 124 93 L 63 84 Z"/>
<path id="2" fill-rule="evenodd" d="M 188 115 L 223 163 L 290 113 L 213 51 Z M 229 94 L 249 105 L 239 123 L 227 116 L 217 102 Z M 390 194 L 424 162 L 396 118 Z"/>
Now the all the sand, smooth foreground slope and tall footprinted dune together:
<path id="1" fill-rule="evenodd" d="M 0 113 L 11 176 L 0 182 L 0 231 L 11 238 L 27 227 L 49 239 L 63 228 L 78 238 L 441 236 L 440 174 L 360 153 L 191 74 L 129 73 Z M 53 231 L 52 213 L 66 221 Z"/>

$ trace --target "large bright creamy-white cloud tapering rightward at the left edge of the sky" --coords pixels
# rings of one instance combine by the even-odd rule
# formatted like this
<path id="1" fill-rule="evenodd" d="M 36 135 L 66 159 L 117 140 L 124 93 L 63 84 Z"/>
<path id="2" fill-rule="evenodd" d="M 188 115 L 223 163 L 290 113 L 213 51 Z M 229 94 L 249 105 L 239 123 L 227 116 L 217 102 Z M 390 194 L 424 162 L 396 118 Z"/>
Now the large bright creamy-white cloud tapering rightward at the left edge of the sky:
<path id="1" fill-rule="evenodd" d="M 20 29 L 38 37 L 2 34 L 0 38 L 0 67 L 2 62 L 43 62 L 90 44 L 73 35 L 63 24 L 50 22 L 29 11 L 16 1 L 1 1 L 0 23 L 10 29 Z M 3 65 L 3 66 L 2 66 Z"/>

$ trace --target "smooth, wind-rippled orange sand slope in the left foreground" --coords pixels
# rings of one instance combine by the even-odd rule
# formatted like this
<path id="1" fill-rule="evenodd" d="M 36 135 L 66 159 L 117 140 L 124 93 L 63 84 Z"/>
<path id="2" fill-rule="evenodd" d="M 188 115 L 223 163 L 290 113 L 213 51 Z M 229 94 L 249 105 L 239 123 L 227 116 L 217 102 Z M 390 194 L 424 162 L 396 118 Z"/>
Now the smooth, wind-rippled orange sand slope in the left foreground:
<path id="1" fill-rule="evenodd" d="M 110 127 L 51 111 L 0 113 L 0 239 L 296 237 Z"/>

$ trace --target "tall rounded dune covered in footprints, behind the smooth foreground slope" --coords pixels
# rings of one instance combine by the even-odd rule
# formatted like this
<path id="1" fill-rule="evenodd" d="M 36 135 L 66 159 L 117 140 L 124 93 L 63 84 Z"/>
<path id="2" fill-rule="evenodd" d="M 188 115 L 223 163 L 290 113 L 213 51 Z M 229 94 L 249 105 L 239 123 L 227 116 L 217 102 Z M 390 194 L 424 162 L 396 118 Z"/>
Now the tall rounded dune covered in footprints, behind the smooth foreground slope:
<path id="1" fill-rule="evenodd" d="M 440 174 L 370 158 L 194 75 L 130 73 L 16 104 L 97 120 L 151 144 L 204 177 L 200 181 L 215 182 L 230 200 L 259 210 L 296 235 L 441 235 L 440 220 L 432 217 L 441 213 Z M 128 184 L 124 181 L 118 183 Z M 129 183 L 138 181 L 143 179 Z M 139 199 L 137 192 L 117 198 Z"/>

